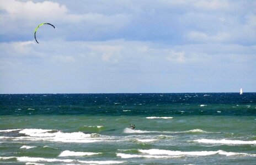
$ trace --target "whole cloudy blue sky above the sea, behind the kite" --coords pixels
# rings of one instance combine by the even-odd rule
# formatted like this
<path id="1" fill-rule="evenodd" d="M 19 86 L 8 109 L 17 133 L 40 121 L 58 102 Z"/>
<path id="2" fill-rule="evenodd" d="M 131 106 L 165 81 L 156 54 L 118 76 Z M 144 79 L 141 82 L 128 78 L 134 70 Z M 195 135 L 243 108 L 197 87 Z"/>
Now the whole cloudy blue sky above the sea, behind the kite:
<path id="1" fill-rule="evenodd" d="M 0 94 L 241 87 L 256 92 L 256 1 L 0 0 Z"/>

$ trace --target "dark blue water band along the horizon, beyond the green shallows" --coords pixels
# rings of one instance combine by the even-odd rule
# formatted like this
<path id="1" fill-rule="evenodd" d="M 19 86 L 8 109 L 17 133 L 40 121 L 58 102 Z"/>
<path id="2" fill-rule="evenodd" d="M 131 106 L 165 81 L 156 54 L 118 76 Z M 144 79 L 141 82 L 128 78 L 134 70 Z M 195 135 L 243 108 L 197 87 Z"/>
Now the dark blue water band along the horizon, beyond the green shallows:
<path id="1" fill-rule="evenodd" d="M 0 115 L 256 116 L 256 93 L 2 94 L 0 109 Z"/>

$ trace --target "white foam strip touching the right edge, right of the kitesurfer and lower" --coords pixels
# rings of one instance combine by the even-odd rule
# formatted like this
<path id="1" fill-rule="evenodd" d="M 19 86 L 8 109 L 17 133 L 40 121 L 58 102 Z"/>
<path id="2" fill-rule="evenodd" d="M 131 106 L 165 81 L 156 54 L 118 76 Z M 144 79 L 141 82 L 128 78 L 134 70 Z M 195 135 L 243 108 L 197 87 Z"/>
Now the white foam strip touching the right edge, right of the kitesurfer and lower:
<path id="1" fill-rule="evenodd" d="M 256 140 L 254 141 L 242 141 L 242 140 L 215 140 L 215 139 L 199 139 L 199 140 L 194 140 L 196 142 L 201 142 L 201 143 L 209 143 L 209 144 L 238 144 L 238 145 L 246 145 L 246 144 L 256 144 Z"/>

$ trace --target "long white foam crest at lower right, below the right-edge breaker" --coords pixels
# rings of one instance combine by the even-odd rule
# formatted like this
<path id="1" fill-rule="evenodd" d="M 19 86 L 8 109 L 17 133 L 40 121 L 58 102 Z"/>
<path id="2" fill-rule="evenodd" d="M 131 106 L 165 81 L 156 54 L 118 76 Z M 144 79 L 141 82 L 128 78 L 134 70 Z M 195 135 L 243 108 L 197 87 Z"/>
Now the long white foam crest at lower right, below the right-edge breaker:
<path id="1" fill-rule="evenodd" d="M 149 155 L 168 155 L 168 156 L 207 156 L 207 155 L 246 155 L 246 156 L 256 156 L 248 154 L 248 153 L 238 153 L 238 152 L 226 152 L 222 150 L 218 151 L 170 151 L 170 150 L 158 150 L 158 149 L 150 149 L 150 150 L 138 150 L 141 153 L 147 153 Z"/>

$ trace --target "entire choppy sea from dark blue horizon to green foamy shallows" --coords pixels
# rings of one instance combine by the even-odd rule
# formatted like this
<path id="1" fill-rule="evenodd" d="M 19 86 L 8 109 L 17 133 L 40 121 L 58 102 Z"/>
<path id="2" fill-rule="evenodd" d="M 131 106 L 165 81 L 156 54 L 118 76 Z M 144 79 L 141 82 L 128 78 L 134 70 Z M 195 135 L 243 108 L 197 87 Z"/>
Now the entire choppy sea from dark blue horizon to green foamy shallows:
<path id="1" fill-rule="evenodd" d="M 0 94 L 0 164 L 256 164 L 256 93 Z"/>

